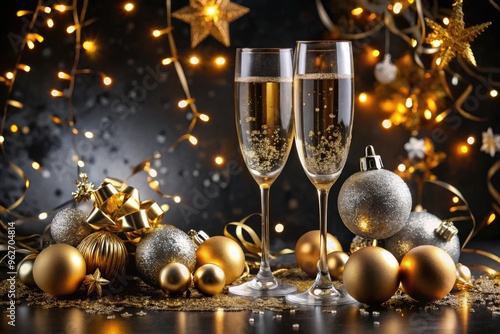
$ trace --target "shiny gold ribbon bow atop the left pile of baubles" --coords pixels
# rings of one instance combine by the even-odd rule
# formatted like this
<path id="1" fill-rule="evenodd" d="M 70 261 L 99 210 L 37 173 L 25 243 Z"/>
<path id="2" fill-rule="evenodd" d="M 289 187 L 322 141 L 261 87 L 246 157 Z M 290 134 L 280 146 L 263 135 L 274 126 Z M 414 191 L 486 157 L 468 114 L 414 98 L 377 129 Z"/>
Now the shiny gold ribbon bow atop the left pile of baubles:
<path id="1" fill-rule="evenodd" d="M 153 200 L 141 202 L 139 191 L 124 182 L 106 178 L 92 193 L 94 208 L 86 222 L 94 230 L 123 232 L 136 245 L 149 230 L 158 226 L 163 210 Z"/>

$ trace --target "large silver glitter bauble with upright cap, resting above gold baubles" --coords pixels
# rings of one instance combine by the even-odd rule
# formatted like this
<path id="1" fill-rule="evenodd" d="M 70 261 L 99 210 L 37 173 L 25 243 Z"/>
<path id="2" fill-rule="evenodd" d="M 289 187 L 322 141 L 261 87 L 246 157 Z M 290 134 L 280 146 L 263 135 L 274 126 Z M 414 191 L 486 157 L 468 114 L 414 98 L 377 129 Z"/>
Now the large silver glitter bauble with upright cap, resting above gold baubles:
<path id="1" fill-rule="evenodd" d="M 344 225 L 366 239 L 385 239 L 403 228 L 411 212 L 411 193 L 395 173 L 382 169 L 373 146 L 360 159 L 361 171 L 342 185 L 338 210 Z"/>

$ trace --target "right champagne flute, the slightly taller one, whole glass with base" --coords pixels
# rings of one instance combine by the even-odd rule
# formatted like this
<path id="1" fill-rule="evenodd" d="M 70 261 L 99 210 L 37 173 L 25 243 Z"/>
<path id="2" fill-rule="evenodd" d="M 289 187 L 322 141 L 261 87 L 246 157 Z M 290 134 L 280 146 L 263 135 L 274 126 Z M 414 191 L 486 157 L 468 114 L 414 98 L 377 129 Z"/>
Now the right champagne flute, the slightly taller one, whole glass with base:
<path id="1" fill-rule="evenodd" d="M 352 46 L 348 41 L 298 41 L 294 57 L 295 145 L 319 198 L 320 259 L 313 285 L 286 300 L 341 305 L 355 300 L 332 284 L 327 265 L 328 193 L 344 168 L 354 113 Z"/>

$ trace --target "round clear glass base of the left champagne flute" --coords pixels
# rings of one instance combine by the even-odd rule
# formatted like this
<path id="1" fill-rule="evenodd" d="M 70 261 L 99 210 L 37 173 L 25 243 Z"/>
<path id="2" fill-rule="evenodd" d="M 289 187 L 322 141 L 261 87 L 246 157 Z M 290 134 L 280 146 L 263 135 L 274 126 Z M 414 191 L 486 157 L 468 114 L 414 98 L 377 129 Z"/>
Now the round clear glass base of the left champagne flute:
<path id="1" fill-rule="evenodd" d="M 283 297 L 295 291 L 297 291 L 295 285 L 282 283 L 277 280 L 266 285 L 257 278 L 229 287 L 229 294 L 242 297 Z"/>

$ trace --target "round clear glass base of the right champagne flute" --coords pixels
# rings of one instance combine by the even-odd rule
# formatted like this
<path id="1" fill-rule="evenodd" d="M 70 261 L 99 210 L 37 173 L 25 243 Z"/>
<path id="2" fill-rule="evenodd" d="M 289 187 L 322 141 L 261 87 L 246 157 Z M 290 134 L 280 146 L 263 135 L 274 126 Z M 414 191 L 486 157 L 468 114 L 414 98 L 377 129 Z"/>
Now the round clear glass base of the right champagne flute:
<path id="1" fill-rule="evenodd" d="M 357 303 L 343 286 L 339 290 L 333 287 L 318 288 L 312 286 L 306 291 L 289 294 L 285 299 L 290 304 L 308 306 L 334 306 Z"/>

